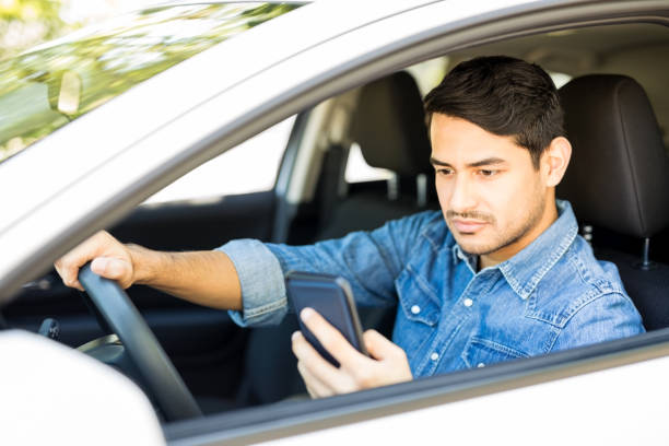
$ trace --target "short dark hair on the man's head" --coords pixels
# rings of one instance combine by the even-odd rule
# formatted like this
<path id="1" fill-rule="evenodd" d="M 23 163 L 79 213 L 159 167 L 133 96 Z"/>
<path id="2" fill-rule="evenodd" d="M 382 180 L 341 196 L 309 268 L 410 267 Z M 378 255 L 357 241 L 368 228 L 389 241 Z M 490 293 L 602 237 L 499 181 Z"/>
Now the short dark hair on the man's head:
<path id="1" fill-rule="evenodd" d="M 535 168 L 553 138 L 564 136 L 564 113 L 551 78 L 538 64 L 506 56 L 458 63 L 427 96 L 430 122 L 438 113 L 466 119 L 529 150 Z"/>

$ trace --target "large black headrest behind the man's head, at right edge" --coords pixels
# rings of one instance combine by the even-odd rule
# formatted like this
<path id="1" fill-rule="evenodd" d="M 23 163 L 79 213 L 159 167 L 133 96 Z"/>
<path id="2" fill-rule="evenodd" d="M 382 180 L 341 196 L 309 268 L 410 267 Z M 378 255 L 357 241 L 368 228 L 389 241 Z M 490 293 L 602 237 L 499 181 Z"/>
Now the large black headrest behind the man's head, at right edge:
<path id="1" fill-rule="evenodd" d="M 595 74 L 560 90 L 572 160 L 558 196 L 576 218 L 636 237 L 669 224 L 669 168 L 643 87 L 624 75 Z"/>

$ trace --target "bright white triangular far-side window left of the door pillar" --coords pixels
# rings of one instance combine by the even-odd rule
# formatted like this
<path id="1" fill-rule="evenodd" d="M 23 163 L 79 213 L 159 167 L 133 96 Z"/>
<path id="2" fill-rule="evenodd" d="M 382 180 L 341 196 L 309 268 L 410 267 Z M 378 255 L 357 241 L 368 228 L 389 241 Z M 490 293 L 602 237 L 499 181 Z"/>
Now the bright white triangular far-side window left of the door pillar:
<path id="1" fill-rule="evenodd" d="M 191 171 L 144 203 L 271 190 L 294 122 L 292 116 L 270 127 Z M 258 163 L 259 159 L 261 163 Z"/>

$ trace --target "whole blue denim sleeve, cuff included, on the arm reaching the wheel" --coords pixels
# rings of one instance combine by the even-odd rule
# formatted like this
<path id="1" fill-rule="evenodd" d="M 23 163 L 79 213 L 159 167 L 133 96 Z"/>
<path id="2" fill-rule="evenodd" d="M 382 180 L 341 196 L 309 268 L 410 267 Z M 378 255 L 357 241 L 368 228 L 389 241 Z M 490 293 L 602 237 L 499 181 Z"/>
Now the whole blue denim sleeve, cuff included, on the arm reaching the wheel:
<path id="1" fill-rule="evenodd" d="M 372 231 L 314 245 L 263 244 L 255 239 L 230 242 L 219 250 L 234 263 L 242 284 L 242 312 L 230 312 L 242 326 L 279 324 L 289 312 L 284 274 L 308 271 L 340 275 L 351 284 L 357 304 L 392 305 L 397 302 L 395 279 L 415 248 L 422 227 L 437 211 L 395 220 Z"/>

